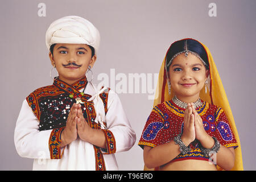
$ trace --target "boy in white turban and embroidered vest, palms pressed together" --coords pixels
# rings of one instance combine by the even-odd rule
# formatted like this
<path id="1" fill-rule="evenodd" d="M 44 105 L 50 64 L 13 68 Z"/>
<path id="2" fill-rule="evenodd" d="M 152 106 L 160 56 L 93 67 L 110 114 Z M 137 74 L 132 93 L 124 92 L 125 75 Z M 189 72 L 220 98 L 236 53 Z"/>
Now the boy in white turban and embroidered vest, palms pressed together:
<path id="1" fill-rule="evenodd" d="M 85 76 L 97 59 L 97 28 L 65 16 L 49 26 L 46 45 L 58 76 L 24 100 L 14 134 L 18 154 L 35 159 L 34 170 L 117 170 L 115 152 L 136 139 L 117 94 Z"/>

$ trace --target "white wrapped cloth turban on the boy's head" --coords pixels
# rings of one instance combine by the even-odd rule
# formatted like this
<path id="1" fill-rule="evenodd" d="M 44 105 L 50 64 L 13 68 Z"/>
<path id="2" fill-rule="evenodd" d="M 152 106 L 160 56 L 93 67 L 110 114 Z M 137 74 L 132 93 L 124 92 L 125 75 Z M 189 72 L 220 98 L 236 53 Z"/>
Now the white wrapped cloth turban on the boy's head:
<path id="1" fill-rule="evenodd" d="M 64 16 L 52 22 L 46 31 L 46 46 L 52 44 L 87 44 L 95 49 L 100 47 L 100 32 L 88 20 L 80 16 Z"/>

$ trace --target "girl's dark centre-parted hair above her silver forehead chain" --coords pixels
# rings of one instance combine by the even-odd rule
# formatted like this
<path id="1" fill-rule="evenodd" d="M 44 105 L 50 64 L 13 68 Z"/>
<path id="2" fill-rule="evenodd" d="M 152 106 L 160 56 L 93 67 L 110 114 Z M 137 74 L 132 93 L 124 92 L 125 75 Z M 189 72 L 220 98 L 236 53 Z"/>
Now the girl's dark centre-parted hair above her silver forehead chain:
<path id="1" fill-rule="evenodd" d="M 204 62 L 207 64 L 205 68 L 209 69 L 207 52 L 205 51 L 205 48 L 203 47 L 203 45 L 194 39 L 183 39 L 183 40 L 178 40 L 177 42 L 172 43 L 166 55 L 166 61 L 167 61 L 166 65 L 168 65 L 168 63 L 170 62 L 172 57 L 176 55 L 176 53 L 185 51 L 186 41 L 187 41 L 187 50 L 197 53 L 197 55 L 199 55 L 201 59 L 203 59 Z M 170 65 L 167 67 L 167 71 L 169 70 L 169 67 Z"/>

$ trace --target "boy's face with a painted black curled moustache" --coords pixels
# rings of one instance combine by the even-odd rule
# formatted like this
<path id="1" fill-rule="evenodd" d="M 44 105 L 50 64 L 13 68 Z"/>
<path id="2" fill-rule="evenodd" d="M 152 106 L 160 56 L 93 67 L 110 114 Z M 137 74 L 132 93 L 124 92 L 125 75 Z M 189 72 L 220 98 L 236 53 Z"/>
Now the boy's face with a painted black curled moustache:
<path id="1" fill-rule="evenodd" d="M 92 50 L 86 44 L 56 44 L 49 57 L 60 80 L 69 85 L 84 77 L 89 65 L 93 67 L 97 58 L 96 55 L 92 57 Z"/>

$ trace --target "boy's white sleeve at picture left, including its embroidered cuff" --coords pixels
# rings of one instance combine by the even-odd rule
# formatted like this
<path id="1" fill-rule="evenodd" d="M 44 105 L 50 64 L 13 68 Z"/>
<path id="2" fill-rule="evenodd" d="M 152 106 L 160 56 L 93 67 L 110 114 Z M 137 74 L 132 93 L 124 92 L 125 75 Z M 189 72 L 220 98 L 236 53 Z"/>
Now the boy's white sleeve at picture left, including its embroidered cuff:
<path id="1" fill-rule="evenodd" d="M 39 131 L 38 118 L 27 101 L 23 101 L 14 131 L 14 143 L 20 156 L 31 159 L 60 156 L 60 133 L 61 129 Z"/>

